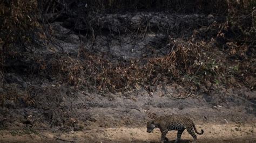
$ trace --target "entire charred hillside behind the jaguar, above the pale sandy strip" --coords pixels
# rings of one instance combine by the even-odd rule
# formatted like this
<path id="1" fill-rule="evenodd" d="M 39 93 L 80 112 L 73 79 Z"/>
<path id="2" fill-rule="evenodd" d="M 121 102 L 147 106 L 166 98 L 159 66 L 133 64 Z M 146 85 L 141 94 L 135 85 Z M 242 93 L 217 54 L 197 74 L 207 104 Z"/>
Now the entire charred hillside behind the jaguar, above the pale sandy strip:
<path id="1" fill-rule="evenodd" d="M 1 1 L 0 9 L 2 129 L 142 126 L 152 113 L 255 119 L 253 1 Z"/>

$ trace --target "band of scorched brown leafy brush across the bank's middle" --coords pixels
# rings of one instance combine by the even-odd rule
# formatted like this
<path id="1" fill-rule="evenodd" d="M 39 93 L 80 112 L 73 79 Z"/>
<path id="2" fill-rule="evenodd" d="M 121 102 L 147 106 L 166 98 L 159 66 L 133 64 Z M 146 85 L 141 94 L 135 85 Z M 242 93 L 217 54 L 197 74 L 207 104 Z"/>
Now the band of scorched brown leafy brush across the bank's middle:
<path id="1" fill-rule="evenodd" d="M 254 87 L 252 81 L 246 82 L 250 72 L 255 71 L 255 59 L 246 54 L 248 45 L 227 40 L 225 45 L 231 47 L 221 51 L 221 48 L 215 47 L 218 36 L 211 40 L 193 40 L 195 37 L 199 38 L 200 33 L 195 32 L 189 40 L 170 39 L 168 55 L 134 59 L 129 63 L 114 64 L 90 52 L 81 51 L 82 59 L 69 57 L 59 60 L 57 64 L 61 66 L 58 72 L 76 88 L 91 91 L 125 91 L 138 85 L 148 88 L 159 83 L 179 83 L 198 89 L 209 83 L 215 87 L 228 85 L 234 79 L 247 87 Z M 237 58 L 244 59 L 244 62 L 233 61 Z"/>

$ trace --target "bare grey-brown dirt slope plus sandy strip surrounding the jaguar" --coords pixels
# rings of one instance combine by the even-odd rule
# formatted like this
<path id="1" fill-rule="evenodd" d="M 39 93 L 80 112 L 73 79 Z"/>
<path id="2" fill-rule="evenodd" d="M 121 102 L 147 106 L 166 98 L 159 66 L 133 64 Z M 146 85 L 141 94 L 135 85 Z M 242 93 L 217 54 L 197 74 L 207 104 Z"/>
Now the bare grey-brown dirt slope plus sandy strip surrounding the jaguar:
<path id="1" fill-rule="evenodd" d="M 171 87 L 168 88 L 172 89 Z M 160 91 L 160 89 L 159 89 Z M 159 115 L 179 114 L 192 118 L 196 127 L 203 129 L 205 133 L 198 135 L 199 142 L 254 142 L 255 136 L 255 105 L 245 102 L 241 98 L 233 101 L 235 92 L 227 90 L 226 102 L 219 102 L 218 95 L 206 98 L 205 95 L 192 95 L 190 98 L 173 100 L 167 96 L 160 96 L 156 91 L 153 96 L 146 90 L 131 92 L 126 97 L 112 95 L 80 95 L 73 100 L 73 106 L 77 109 L 75 126 L 68 128 L 69 132 L 59 132 L 59 127 L 54 127 L 49 132 L 48 126 L 28 127 L 14 121 L 9 131 L 0 132 L 1 141 L 24 142 L 144 142 L 159 141 L 160 132 L 156 129 L 153 133 L 146 132 L 146 121 L 150 117 Z M 244 91 L 245 94 L 254 95 L 253 92 Z M 229 95 L 230 94 L 230 95 Z M 232 95 L 232 98 L 229 96 Z M 222 95 L 223 96 L 223 95 Z M 199 98 L 198 98 L 199 97 Z M 230 101 L 232 99 L 232 101 Z M 86 106 L 86 109 L 83 108 Z M 30 119 L 36 120 L 37 114 L 30 113 Z M 19 127 L 17 127 L 19 126 Z M 24 128 L 21 130 L 21 128 Z M 56 133 L 55 133 L 56 132 Z M 167 135 L 170 140 L 176 139 L 176 131 L 170 131 Z M 183 142 L 192 141 L 192 137 L 185 131 Z"/>

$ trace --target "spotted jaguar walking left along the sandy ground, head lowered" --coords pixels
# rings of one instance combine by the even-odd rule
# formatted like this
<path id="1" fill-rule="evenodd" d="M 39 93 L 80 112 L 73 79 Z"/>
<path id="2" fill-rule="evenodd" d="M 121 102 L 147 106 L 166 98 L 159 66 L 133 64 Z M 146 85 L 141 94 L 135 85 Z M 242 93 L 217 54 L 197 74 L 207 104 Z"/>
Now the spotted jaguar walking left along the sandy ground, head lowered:
<path id="1" fill-rule="evenodd" d="M 185 129 L 187 129 L 187 132 L 191 134 L 191 136 L 194 138 L 194 142 L 197 141 L 197 135 L 194 133 L 194 131 L 197 134 L 203 134 L 204 131 L 201 130 L 201 133 L 197 131 L 196 126 L 194 125 L 193 121 L 186 117 L 186 116 L 180 116 L 180 115 L 170 115 L 170 116 L 161 116 L 157 119 L 151 120 L 147 122 L 147 132 L 151 133 L 154 128 L 159 128 L 161 131 L 161 141 L 168 141 L 168 138 L 166 138 L 166 134 L 168 131 L 176 130 L 177 133 L 177 139 L 175 142 L 180 141 L 181 134 Z"/>

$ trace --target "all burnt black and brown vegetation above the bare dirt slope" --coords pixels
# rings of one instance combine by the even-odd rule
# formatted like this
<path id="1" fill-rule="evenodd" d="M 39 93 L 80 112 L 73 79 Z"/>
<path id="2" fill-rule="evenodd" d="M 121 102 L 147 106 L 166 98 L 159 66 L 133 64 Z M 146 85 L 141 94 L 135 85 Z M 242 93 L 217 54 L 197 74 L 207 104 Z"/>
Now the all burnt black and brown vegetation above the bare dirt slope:
<path id="1" fill-rule="evenodd" d="M 219 87 L 255 90 L 255 4 L 244 0 L 1 0 L 0 105 L 37 108 L 44 111 L 38 117 L 45 117 L 49 126 L 62 124 L 69 129 L 74 126 L 73 109 L 62 105 L 63 96 L 71 98 L 79 91 L 104 95 L 144 88 L 151 94 L 158 85 L 176 83 L 187 92 L 174 98 L 182 98 Z M 173 25 L 161 13 L 175 18 Z M 71 39 L 77 40 L 77 52 L 67 52 L 59 43 L 66 39 L 56 23 L 68 30 L 64 35 L 77 35 Z M 142 40 L 149 33 L 164 37 L 145 46 L 146 52 L 139 56 L 120 58 L 86 46 L 105 33 L 132 34 Z M 40 122 L 29 124 L 36 121 Z"/>

